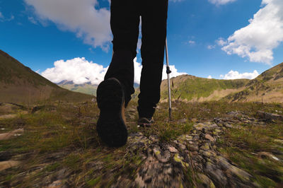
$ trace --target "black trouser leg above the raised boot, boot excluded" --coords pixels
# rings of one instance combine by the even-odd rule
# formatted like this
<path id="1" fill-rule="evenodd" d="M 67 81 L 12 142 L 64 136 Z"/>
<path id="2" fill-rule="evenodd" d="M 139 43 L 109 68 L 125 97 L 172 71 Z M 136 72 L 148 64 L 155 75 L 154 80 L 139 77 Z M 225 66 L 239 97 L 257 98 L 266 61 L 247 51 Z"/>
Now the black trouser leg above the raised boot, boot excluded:
<path id="1" fill-rule="evenodd" d="M 117 78 L 125 87 L 125 105 L 134 93 L 134 62 L 139 36 L 137 0 L 112 0 L 110 25 L 113 34 L 113 56 L 105 80 Z"/>

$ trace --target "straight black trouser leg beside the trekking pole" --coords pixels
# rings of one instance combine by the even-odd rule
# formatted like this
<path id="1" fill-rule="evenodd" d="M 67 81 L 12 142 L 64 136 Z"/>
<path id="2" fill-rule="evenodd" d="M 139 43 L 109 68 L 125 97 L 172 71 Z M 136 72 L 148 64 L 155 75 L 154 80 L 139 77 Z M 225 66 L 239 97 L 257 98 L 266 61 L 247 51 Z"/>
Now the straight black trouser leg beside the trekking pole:
<path id="1" fill-rule="evenodd" d="M 144 0 L 141 7 L 141 82 L 139 117 L 151 118 L 160 100 L 168 0 Z"/>

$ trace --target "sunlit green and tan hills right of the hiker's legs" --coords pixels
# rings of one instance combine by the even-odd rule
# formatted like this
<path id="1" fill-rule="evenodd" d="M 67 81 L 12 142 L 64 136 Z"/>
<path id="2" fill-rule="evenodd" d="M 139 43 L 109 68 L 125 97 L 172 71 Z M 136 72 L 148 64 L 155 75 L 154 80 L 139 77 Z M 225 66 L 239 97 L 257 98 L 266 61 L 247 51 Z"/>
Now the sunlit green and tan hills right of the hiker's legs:
<path id="1" fill-rule="evenodd" d="M 161 83 L 161 99 L 168 98 L 167 80 Z M 283 102 L 283 63 L 253 80 L 218 80 L 181 75 L 171 79 L 171 97 L 187 101 Z"/>

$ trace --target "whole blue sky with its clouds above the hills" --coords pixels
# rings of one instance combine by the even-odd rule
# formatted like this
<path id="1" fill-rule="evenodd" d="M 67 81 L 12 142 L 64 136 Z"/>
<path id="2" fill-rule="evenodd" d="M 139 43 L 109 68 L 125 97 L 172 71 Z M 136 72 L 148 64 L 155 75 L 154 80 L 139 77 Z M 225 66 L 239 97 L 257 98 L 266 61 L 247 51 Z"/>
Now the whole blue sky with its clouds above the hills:
<path id="1" fill-rule="evenodd" d="M 97 83 L 112 55 L 109 8 L 108 0 L 0 0 L 0 49 L 51 81 Z M 283 61 L 282 41 L 282 0 L 169 1 L 173 76 L 254 78 Z M 140 63 L 138 53 L 135 82 Z"/>

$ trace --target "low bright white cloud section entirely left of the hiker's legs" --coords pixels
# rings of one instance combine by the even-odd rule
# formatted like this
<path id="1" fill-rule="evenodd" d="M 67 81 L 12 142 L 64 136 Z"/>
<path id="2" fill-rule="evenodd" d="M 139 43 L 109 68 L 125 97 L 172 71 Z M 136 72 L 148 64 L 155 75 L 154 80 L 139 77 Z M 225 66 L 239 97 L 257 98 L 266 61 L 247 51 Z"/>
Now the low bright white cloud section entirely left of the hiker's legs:
<path id="1" fill-rule="evenodd" d="M 41 75 L 54 83 L 73 81 L 75 84 L 98 84 L 103 81 L 107 69 L 108 67 L 87 61 L 84 57 L 77 57 L 67 61 L 55 61 L 54 67 L 46 69 Z"/>

